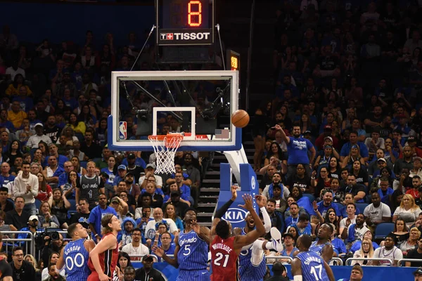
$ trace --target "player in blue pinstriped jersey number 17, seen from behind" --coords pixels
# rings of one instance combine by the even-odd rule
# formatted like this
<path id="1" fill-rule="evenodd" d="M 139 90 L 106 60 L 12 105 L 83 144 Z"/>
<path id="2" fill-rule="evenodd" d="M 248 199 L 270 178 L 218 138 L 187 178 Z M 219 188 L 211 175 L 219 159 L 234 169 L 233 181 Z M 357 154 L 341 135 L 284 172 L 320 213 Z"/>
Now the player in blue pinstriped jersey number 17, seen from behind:
<path id="1" fill-rule="evenodd" d="M 294 281 L 335 281 L 333 270 L 315 251 L 309 251 L 312 237 L 300 235 L 296 247 L 299 254 L 292 261 Z"/>

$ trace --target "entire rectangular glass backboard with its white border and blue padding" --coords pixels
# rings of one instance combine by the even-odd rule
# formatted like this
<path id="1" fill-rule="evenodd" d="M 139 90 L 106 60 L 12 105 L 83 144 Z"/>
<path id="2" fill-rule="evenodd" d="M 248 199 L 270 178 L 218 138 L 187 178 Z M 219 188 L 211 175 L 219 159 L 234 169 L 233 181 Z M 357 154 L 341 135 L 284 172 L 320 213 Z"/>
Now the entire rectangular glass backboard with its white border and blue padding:
<path id="1" fill-rule="evenodd" d="M 153 150 L 148 136 L 184 133 L 179 150 L 241 149 L 237 71 L 112 72 L 108 148 Z"/>

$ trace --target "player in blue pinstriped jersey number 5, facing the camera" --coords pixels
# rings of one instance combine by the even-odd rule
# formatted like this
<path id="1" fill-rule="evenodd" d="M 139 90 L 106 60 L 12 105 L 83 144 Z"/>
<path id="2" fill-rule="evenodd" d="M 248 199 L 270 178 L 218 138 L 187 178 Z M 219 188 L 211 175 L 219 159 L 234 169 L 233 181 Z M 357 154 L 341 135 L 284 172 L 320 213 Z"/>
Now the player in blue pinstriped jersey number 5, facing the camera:
<path id="1" fill-rule="evenodd" d="M 191 208 L 185 211 L 184 223 L 183 232 L 174 239 L 176 249 L 173 259 L 167 256 L 161 247 L 153 247 L 153 252 L 175 268 L 179 268 L 177 281 L 210 281 L 210 272 L 207 270 L 210 229 L 196 223 L 196 211 Z"/>

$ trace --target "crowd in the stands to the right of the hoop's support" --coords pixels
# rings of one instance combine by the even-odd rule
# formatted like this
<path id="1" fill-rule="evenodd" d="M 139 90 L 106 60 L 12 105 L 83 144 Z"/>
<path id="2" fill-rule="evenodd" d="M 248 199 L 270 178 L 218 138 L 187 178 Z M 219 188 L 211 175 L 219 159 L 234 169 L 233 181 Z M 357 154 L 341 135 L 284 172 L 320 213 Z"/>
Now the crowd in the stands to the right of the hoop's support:
<path id="1" fill-rule="evenodd" d="M 285 237 L 321 244 L 329 223 L 333 256 L 422 258 L 421 8 L 281 1 L 274 97 L 255 111 L 252 136 L 260 190 Z"/>

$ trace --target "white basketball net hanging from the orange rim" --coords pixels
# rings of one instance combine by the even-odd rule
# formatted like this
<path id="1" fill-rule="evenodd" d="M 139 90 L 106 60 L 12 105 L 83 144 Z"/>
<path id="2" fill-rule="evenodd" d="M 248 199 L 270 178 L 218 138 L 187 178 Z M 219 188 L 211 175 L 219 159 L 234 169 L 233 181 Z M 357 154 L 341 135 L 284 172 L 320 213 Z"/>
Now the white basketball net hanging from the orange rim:
<path id="1" fill-rule="evenodd" d="M 170 133 L 163 136 L 148 136 L 157 157 L 155 174 L 172 174 L 174 169 L 174 155 L 179 148 L 183 136 L 180 133 Z"/>

